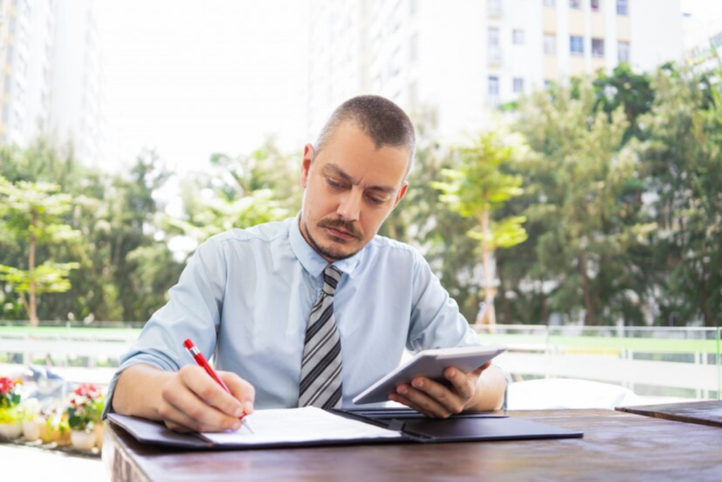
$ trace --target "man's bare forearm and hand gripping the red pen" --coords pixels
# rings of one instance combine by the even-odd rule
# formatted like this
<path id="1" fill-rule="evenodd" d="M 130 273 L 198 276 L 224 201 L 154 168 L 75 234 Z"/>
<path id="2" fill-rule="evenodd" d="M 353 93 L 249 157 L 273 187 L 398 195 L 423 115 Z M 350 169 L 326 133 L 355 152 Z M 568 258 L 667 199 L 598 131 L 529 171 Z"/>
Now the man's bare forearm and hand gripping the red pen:
<path id="1" fill-rule="evenodd" d="M 253 413 L 255 390 L 240 376 L 217 371 L 229 395 L 200 366 L 162 371 L 138 363 L 123 371 L 113 392 L 113 409 L 123 415 L 163 421 L 175 431 L 240 428 L 238 418 Z"/>

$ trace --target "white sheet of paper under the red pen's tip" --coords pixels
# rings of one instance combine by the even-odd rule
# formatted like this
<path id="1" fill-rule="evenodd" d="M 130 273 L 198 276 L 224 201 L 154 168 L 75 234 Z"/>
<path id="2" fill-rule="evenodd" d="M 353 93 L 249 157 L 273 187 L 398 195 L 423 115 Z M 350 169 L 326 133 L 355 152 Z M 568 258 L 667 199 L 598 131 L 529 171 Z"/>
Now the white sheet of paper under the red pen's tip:
<path id="1" fill-rule="evenodd" d="M 248 420 L 251 430 L 245 426 Z M 382 429 L 316 407 L 256 410 L 237 431 L 203 433 L 214 444 L 255 445 L 319 440 L 401 438 L 398 431 Z"/>

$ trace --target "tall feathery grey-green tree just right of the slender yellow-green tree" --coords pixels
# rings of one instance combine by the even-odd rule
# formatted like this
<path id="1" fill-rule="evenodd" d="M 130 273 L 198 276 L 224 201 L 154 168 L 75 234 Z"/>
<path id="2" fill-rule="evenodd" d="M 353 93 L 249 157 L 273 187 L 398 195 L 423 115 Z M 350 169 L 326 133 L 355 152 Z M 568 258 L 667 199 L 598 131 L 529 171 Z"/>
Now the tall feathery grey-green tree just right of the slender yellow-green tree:
<path id="1" fill-rule="evenodd" d="M 645 222 L 629 125 L 623 105 L 599 109 L 588 80 L 520 104 L 516 126 L 537 156 L 518 165 L 535 246 L 523 276 L 541 290 L 546 315 L 586 324 L 643 319 L 656 225 Z"/>

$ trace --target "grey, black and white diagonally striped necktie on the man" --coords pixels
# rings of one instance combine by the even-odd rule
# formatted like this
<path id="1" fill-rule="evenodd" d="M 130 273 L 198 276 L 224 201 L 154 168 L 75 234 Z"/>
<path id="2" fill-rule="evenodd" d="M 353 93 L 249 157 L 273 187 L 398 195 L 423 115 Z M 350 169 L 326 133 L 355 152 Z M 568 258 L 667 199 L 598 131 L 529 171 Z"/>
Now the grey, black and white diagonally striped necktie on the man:
<path id="1" fill-rule="evenodd" d="M 334 293 L 341 275 L 333 264 L 323 270 L 323 291 L 306 326 L 299 407 L 341 408 L 341 337 L 334 318 Z"/>

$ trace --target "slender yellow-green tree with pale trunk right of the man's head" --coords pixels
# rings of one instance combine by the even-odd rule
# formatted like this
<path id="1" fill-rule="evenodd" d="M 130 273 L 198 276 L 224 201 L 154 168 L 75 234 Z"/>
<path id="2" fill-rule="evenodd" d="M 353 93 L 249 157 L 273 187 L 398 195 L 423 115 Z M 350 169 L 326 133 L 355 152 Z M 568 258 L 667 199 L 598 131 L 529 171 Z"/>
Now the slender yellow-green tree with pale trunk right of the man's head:
<path id="1" fill-rule="evenodd" d="M 479 225 L 468 232 L 480 243 L 484 272 L 485 320 L 496 324 L 496 294 L 492 256 L 497 248 L 509 248 L 526 241 L 523 216 L 492 220 L 492 212 L 522 193 L 521 176 L 505 173 L 506 165 L 523 155 L 524 147 L 501 131 L 484 132 L 474 144 L 458 150 L 456 168 L 445 169 L 446 182 L 432 184 L 443 194 L 439 197 L 453 212 L 474 218 Z"/>

